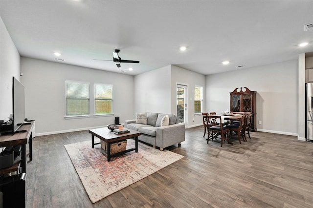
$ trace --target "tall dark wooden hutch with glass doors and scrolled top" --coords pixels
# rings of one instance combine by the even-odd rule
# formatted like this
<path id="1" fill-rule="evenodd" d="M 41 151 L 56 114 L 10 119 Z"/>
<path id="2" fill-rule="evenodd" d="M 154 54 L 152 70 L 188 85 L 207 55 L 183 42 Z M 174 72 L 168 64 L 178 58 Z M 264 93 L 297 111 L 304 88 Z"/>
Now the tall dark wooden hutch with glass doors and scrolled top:
<path id="1" fill-rule="evenodd" d="M 243 91 L 243 88 L 246 89 Z M 247 87 L 237 87 L 230 92 L 230 111 L 253 113 L 250 130 L 256 131 L 256 91 L 251 91 Z"/>

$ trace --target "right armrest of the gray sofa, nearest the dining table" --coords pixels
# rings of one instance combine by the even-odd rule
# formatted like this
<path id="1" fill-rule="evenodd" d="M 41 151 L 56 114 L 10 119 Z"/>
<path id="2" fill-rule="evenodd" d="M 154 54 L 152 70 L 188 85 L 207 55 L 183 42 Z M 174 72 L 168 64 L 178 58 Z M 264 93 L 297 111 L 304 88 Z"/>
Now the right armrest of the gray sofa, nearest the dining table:
<path id="1" fill-rule="evenodd" d="M 185 141 L 185 125 L 174 124 L 156 128 L 156 146 L 165 148 Z"/>

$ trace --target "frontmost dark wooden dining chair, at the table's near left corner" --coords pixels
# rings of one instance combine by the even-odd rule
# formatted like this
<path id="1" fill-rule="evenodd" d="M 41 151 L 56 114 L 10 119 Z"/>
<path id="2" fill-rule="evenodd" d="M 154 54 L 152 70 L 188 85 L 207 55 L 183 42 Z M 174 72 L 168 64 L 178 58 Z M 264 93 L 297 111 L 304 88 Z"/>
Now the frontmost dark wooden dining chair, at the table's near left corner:
<path id="1" fill-rule="evenodd" d="M 229 128 L 226 126 L 223 126 L 222 124 L 222 118 L 221 116 L 216 116 L 216 115 L 207 115 L 208 122 L 211 125 L 208 128 L 208 137 L 207 137 L 207 144 L 209 144 L 210 140 L 210 133 L 212 133 L 212 141 L 215 138 L 217 140 L 217 135 L 221 135 L 221 147 L 223 147 L 223 141 L 227 141 L 229 143 Z M 215 135 L 213 136 L 213 133 L 215 132 Z"/>

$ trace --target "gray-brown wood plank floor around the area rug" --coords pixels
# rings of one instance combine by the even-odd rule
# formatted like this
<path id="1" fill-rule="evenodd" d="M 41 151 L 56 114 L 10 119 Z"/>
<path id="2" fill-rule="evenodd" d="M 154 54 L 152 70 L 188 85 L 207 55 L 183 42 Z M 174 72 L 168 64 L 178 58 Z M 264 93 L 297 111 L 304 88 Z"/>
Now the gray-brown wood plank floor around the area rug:
<path id="1" fill-rule="evenodd" d="M 178 162 L 92 204 L 66 144 L 91 141 L 88 131 L 37 136 L 27 164 L 27 208 L 312 208 L 313 143 L 251 132 L 251 140 L 206 140 L 186 129 Z"/>

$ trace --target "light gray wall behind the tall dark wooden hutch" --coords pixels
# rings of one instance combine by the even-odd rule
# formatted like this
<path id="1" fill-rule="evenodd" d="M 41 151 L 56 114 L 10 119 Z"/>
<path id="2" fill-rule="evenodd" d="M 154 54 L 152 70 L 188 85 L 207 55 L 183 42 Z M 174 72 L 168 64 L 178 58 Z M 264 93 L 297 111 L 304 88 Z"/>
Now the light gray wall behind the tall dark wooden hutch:
<path id="1" fill-rule="evenodd" d="M 298 135 L 297 60 L 206 76 L 206 110 L 229 109 L 236 87 L 257 91 L 258 131 Z"/>

